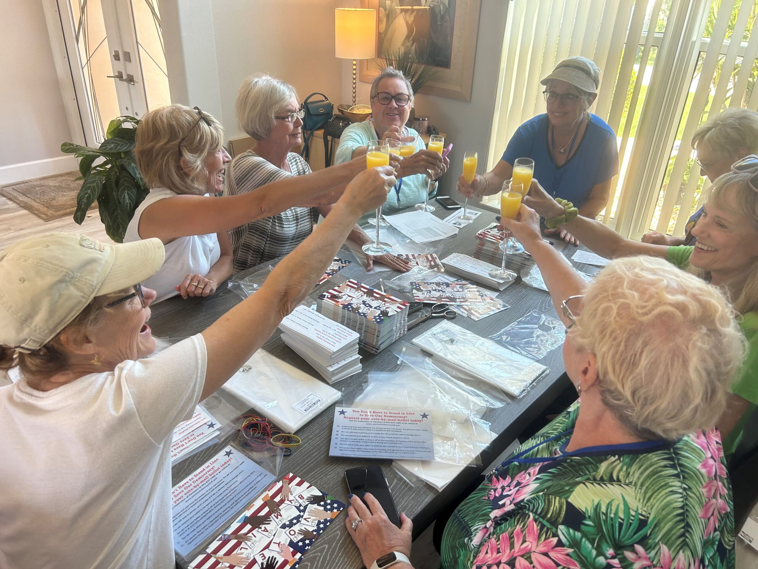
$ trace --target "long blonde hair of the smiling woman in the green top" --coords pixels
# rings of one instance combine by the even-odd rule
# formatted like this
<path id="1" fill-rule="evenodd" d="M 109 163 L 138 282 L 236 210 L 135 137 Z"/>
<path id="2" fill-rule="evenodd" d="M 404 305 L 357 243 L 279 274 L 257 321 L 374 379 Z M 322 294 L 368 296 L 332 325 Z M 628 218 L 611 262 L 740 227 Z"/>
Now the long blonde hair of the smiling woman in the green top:
<path id="1" fill-rule="evenodd" d="M 758 192 L 750 187 L 750 178 L 756 172 L 727 172 L 722 174 L 706 190 L 706 202 L 719 209 L 731 211 L 747 218 L 758 232 Z M 703 269 L 689 266 L 688 271 L 706 281 L 711 275 Z M 726 292 L 731 297 L 735 310 L 740 314 L 758 311 L 758 266 L 745 267 L 741 278 L 728 282 Z"/>

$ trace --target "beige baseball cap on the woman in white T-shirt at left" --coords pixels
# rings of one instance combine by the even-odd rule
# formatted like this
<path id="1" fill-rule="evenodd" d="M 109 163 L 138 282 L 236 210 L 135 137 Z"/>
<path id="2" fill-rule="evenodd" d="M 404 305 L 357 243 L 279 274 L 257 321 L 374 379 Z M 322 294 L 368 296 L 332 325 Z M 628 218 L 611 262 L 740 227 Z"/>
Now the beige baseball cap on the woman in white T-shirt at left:
<path id="1" fill-rule="evenodd" d="M 36 350 L 90 301 L 154 275 L 160 239 L 105 244 L 86 235 L 46 233 L 0 253 L 0 344 Z"/>

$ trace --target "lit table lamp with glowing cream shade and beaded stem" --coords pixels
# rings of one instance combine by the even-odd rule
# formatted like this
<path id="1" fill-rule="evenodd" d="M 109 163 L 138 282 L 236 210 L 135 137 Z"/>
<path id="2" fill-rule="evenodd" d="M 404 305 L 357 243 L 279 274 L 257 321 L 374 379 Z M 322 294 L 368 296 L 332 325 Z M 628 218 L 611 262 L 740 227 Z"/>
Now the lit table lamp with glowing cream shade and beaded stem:
<path id="1" fill-rule="evenodd" d="M 356 74 L 359 59 L 377 55 L 376 10 L 335 8 L 334 55 L 352 59 L 352 104 L 356 104 Z"/>

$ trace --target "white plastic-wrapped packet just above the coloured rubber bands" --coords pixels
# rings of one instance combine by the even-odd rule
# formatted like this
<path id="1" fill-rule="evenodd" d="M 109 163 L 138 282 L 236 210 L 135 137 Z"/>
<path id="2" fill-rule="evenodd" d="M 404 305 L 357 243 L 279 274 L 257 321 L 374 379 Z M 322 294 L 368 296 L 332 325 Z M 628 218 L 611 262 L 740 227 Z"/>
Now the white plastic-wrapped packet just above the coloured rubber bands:
<path id="1" fill-rule="evenodd" d="M 252 355 L 224 390 L 290 433 L 342 397 L 337 389 L 263 350 Z"/>

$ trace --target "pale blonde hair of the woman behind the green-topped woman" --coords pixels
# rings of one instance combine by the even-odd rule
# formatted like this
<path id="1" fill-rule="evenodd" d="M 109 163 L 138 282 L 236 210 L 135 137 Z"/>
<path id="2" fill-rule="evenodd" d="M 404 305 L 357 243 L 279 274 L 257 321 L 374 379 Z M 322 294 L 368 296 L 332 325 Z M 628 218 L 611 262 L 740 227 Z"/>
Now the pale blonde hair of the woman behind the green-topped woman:
<path id="1" fill-rule="evenodd" d="M 692 148 L 704 142 L 723 156 L 737 160 L 739 150 L 758 153 L 758 112 L 749 108 L 728 108 L 709 118 L 692 135 Z"/>

